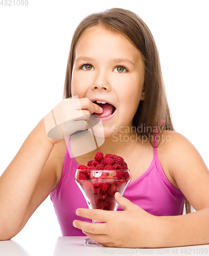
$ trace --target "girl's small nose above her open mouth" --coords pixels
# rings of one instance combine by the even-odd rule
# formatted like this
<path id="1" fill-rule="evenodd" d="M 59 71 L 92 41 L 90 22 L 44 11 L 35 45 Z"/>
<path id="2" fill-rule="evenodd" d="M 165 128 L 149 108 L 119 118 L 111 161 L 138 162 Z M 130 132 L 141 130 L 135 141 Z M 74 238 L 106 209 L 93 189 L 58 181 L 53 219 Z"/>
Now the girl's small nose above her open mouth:
<path id="1" fill-rule="evenodd" d="M 100 72 L 99 74 L 96 74 L 95 80 L 92 83 L 91 89 L 110 91 L 111 86 L 110 86 L 108 75 L 105 72 Z"/>

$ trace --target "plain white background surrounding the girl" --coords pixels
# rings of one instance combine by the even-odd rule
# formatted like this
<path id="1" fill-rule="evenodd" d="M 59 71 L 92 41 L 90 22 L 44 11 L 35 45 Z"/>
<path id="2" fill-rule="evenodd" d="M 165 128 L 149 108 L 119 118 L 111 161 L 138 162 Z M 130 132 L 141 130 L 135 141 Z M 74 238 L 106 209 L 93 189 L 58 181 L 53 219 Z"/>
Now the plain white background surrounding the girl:
<path id="1" fill-rule="evenodd" d="M 193 143 L 209 167 L 206 0 L 28 2 L 0 5 L 0 174 L 39 120 L 62 99 L 69 47 L 78 24 L 88 14 L 113 7 L 134 11 L 151 30 L 175 129 Z M 49 197 L 14 240 L 30 247 L 33 236 L 61 236 Z"/>

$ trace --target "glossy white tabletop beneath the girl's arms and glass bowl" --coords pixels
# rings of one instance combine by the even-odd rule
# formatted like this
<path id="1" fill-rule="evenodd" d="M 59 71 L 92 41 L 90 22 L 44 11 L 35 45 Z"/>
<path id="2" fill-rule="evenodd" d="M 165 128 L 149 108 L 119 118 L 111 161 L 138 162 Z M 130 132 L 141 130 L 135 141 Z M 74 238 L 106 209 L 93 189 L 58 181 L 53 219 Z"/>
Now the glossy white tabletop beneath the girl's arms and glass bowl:
<path id="1" fill-rule="evenodd" d="M 58 237 L 57 241 L 33 239 L 29 244 L 14 240 L 0 242 L 1 256 L 99 256 L 113 255 L 209 255 L 209 245 L 175 248 L 110 248 L 102 245 L 84 245 L 85 237 Z"/>

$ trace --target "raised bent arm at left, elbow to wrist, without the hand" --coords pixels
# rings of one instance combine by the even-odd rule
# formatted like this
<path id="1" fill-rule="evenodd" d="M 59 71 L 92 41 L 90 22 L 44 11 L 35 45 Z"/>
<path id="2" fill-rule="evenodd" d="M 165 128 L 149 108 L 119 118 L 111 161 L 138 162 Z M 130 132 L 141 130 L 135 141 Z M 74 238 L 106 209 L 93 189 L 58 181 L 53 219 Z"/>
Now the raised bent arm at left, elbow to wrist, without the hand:
<path id="1" fill-rule="evenodd" d="M 42 119 L 0 177 L 0 240 L 11 239 L 22 229 L 55 183 L 55 172 L 50 169 L 52 166 L 49 160 L 45 167 L 49 179 L 42 184 L 39 182 L 36 187 L 54 148 L 54 144 L 44 135 L 44 129 Z M 35 187 L 38 197 L 32 197 Z"/>

